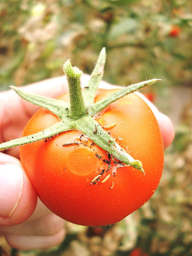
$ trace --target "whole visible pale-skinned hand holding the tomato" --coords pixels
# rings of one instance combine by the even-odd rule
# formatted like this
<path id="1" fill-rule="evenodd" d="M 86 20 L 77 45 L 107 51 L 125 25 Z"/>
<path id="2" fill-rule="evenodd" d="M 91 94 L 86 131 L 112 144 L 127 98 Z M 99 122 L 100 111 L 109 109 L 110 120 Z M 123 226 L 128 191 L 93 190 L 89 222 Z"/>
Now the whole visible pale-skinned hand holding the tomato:
<path id="1" fill-rule="evenodd" d="M 89 76 L 83 75 L 82 85 L 86 86 L 88 80 Z M 100 88 L 114 86 L 101 82 Z M 67 91 L 67 83 L 62 76 L 22 89 L 56 98 Z M 174 138 L 172 122 L 151 102 L 144 100 L 156 116 L 164 148 L 167 148 Z M 1 92 L 0 102 L 0 142 L 19 138 L 38 107 L 22 100 L 12 90 Z M 65 221 L 50 212 L 39 200 L 37 202 L 36 192 L 19 161 L 19 148 L 11 148 L 5 153 L 0 153 L 0 234 L 5 236 L 8 244 L 20 250 L 44 249 L 59 244 L 65 237 Z"/>

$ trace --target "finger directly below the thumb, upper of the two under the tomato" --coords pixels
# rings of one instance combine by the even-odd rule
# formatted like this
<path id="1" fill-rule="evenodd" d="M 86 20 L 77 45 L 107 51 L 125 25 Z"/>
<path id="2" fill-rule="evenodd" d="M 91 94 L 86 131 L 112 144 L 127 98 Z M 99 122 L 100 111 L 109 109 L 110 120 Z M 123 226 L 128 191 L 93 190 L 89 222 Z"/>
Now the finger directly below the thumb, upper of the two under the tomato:
<path id="1" fill-rule="evenodd" d="M 14 226 L 3 226 L 0 231 L 4 234 L 21 236 L 52 236 L 64 228 L 65 221 L 57 215 L 49 214 L 31 221 L 25 221 Z"/>

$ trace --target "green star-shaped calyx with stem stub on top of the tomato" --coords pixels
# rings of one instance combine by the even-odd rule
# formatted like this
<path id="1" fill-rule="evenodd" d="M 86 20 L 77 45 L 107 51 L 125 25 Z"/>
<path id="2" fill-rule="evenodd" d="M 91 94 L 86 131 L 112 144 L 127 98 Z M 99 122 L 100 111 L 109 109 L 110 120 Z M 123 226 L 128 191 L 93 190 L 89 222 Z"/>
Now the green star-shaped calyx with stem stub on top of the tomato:
<path id="1" fill-rule="evenodd" d="M 106 52 L 105 48 L 103 48 L 91 74 L 90 80 L 85 86 L 83 92 L 81 90 L 80 81 L 82 71 L 76 67 L 72 67 L 70 60 L 67 60 L 64 63 L 63 70 L 68 81 L 70 104 L 61 100 L 51 99 L 35 94 L 28 94 L 15 86 L 10 86 L 18 95 L 28 102 L 50 110 L 53 114 L 60 118 L 60 122 L 36 134 L 4 142 L 0 144 L 0 151 L 12 148 L 14 146 L 20 146 L 45 138 L 50 138 L 56 134 L 59 134 L 60 132 L 68 130 L 80 130 L 100 148 L 110 153 L 114 158 L 120 160 L 126 165 L 133 166 L 144 173 L 142 163 L 139 160 L 132 158 L 132 156 L 130 156 L 126 150 L 121 148 L 114 138 L 112 138 L 108 132 L 106 132 L 106 130 L 104 130 L 100 124 L 96 122 L 94 116 L 115 100 L 153 84 L 160 79 L 154 78 L 138 84 L 132 84 L 124 87 L 122 90 L 114 92 L 103 100 L 94 103 L 96 91 L 103 76 L 105 60 Z"/>

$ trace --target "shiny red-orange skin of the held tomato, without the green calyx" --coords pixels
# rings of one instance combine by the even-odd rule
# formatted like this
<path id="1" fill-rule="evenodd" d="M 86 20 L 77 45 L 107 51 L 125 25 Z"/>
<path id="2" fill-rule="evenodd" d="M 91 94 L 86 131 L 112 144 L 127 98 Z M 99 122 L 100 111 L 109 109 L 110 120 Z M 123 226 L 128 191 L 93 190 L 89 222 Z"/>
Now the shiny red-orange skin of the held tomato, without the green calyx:
<path id="1" fill-rule="evenodd" d="M 98 90 L 96 101 L 115 90 Z M 67 99 L 67 95 L 59 97 Z M 39 110 L 26 125 L 23 135 L 36 133 L 58 122 L 45 109 Z M 104 172 L 110 178 L 91 181 L 108 169 L 108 154 L 81 132 L 62 132 L 54 138 L 20 146 L 20 159 L 42 202 L 55 214 L 75 224 L 103 226 L 116 223 L 142 206 L 156 190 L 163 169 L 163 144 L 154 114 L 136 94 L 113 102 L 101 114 L 102 126 L 128 153 L 142 162 L 145 174 L 126 166 Z M 62 146 L 69 142 L 78 145 Z M 96 154 L 101 155 L 99 159 Z M 116 165 L 112 161 L 115 170 Z M 114 176 L 114 175 L 115 176 Z"/>

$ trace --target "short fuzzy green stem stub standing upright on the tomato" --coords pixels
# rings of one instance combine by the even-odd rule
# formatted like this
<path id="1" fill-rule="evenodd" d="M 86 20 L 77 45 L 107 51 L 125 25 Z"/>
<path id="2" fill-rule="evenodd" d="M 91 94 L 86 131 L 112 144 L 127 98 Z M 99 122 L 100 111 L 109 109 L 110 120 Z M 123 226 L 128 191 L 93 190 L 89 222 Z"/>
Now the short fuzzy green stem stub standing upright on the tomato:
<path id="1" fill-rule="evenodd" d="M 70 118 L 76 120 L 86 112 L 86 106 L 81 92 L 80 76 L 82 71 L 76 67 L 72 67 L 70 60 L 63 65 L 63 70 L 68 81 L 69 97 L 70 97 Z"/>

